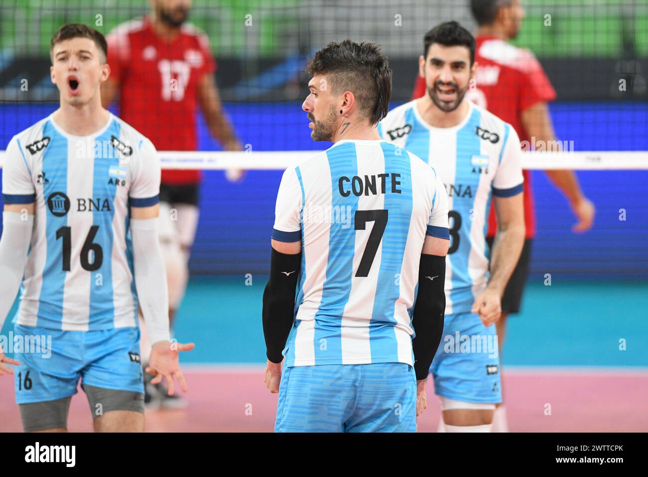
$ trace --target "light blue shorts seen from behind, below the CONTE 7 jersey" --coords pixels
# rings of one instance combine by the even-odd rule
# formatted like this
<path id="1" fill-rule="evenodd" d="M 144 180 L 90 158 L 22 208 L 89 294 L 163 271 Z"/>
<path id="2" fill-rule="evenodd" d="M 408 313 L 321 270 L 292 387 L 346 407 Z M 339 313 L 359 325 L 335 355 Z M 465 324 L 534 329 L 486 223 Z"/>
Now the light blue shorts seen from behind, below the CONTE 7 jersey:
<path id="1" fill-rule="evenodd" d="M 275 432 L 416 432 L 404 363 L 284 367 Z"/>

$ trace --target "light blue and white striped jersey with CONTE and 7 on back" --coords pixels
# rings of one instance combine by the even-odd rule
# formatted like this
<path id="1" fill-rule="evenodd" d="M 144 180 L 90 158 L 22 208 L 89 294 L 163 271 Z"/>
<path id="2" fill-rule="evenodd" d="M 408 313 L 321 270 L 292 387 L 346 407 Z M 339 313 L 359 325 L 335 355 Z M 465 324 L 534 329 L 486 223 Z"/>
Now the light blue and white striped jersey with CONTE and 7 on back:
<path id="1" fill-rule="evenodd" d="M 448 238 L 446 192 L 400 147 L 342 140 L 287 169 L 272 238 L 303 248 L 286 365 L 413 365 L 426 234 Z"/>

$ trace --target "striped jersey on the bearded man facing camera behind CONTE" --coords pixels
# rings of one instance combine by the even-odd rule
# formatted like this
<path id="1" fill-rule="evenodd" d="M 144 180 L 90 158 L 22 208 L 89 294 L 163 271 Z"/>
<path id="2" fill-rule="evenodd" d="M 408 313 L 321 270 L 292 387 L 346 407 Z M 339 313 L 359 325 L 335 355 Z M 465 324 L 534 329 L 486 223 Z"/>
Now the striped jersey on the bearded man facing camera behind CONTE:
<path id="1" fill-rule="evenodd" d="M 489 279 L 485 235 L 491 194 L 522 193 L 522 151 L 511 125 L 469 101 L 458 125 L 432 127 L 417 101 L 402 104 L 378 124 L 380 135 L 430 164 L 448 193 L 450 250 L 446 258 L 446 315 L 470 312 Z"/>

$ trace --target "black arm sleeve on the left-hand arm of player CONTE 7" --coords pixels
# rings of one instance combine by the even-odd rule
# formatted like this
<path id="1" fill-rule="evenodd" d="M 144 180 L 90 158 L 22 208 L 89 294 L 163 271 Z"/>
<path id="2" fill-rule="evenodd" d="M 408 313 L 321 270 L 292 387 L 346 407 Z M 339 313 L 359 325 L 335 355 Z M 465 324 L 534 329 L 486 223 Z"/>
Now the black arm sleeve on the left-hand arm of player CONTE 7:
<path id="1" fill-rule="evenodd" d="M 263 292 L 263 334 L 266 355 L 273 363 L 281 363 L 294 319 L 295 289 L 301 269 L 301 252 L 288 255 L 272 249 L 270 279 Z"/>

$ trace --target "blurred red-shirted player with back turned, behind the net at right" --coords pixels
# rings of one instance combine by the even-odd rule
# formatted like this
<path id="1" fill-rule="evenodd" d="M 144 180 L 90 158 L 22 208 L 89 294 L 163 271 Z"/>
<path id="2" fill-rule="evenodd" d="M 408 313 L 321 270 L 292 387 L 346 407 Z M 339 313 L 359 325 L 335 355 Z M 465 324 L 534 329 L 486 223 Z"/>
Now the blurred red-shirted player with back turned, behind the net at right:
<path id="1" fill-rule="evenodd" d="M 520 0 L 472 0 L 472 14 L 479 28 L 476 34 L 475 60 L 479 64 L 476 88 L 470 88 L 467 98 L 511 124 L 524 144 L 538 150 L 559 151 L 559 143 L 551 125 L 547 103 L 556 93 L 551 87 L 542 66 L 533 53 L 509 45 L 516 38 L 524 18 Z M 425 80 L 417 78 L 413 98 L 426 92 Z M 553 147 L 553 149 L 552 149 Z M 529 149 L 525 147 L 524 149 Z M 589 230 L 594 223 L 595 209 L 581 191 L 573 171 L 545 171 L 551 182 L 568 200 L 578 223 L 574 232 Z M 526 239 L 520 260 L 511 275 L 502 298 L 502 317 L 496 323 L 500 349 L 506 335 L 506 318 L 509 313 L 520 312 L 522 292 L 526 283 L 531 257 L 531 242 L 535 236 L 535 212 L 531 191 L 531 173 L 524 171 L 524 219 Z M 496 215 L 491 210 L 487 240 L 492 247 L 497 230 Z M 493 421 L 493 432 L 507 432 L 506 414 L 498 406 Z"/>

